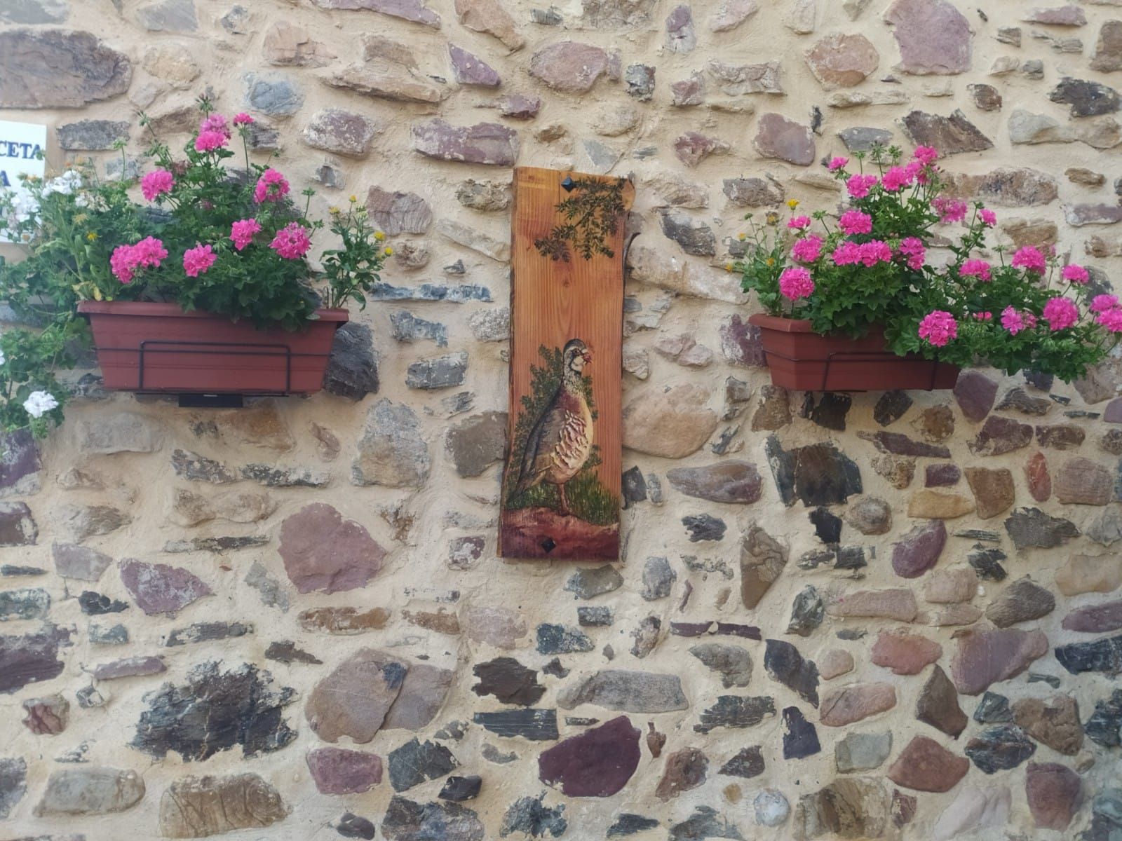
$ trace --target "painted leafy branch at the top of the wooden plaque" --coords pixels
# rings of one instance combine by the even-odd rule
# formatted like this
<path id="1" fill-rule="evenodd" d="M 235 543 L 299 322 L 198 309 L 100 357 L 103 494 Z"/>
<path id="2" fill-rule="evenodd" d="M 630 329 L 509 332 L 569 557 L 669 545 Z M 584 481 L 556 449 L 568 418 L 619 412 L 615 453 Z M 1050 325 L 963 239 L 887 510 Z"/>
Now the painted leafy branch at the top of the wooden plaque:
<path id="1" fill-rule="evenodd" d="M 615 257 L 607 244 L 624 218 L 624 181 L 574 179 L 572 193 L 557 205 L 565 222 L 549 237 L 534 240 L 539 253 L 569 262 L 569 243 L 586 260 L 594 255 Z"/>

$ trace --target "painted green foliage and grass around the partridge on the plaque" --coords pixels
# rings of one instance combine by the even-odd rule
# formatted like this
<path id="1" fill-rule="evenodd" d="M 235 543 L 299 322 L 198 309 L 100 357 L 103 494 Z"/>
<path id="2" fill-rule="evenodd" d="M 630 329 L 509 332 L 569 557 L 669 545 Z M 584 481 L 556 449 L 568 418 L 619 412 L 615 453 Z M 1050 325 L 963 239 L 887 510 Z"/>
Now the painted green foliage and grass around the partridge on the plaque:
<path id="1" fill-rule="evenodd" d="M 514 425 L 514 441 L 503 481 L 503 507 L 508 510 L 542 507 L 557 510 L 561 505 L 557 487 L 545 482 L 521 493 L 515 490 L 522 459 L 526 452 L 526 441 L 537 418 L 541 417 L 561 388 L 564 373 L 564 362 L 560 348 L 546 348 L 543 344 L 537 349 L 537 353 L 543 363 L 530 366 L 530 394 L 522 396 L 522 412 L 518 413 Z M 591 377 L 582 377 L 581 387 L 595 420 L 597 412 L 592 401 Z M 596 470 L 600 463 L 599 447 L 594 445 L 592 452 L 580 471 L 565 483 L 565 497 L 573 515 L 587 523 L 605 526 L 618 520 L 619 501 L 616 495 L 600 482 Z"/>

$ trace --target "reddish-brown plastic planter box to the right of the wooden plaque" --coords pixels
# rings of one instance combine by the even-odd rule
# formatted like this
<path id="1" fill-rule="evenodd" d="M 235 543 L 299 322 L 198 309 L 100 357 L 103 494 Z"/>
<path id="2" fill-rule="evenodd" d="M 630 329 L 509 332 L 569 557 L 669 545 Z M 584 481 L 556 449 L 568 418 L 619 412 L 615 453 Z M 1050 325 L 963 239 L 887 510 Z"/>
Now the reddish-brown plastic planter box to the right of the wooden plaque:
<path id="1" fill-rule="evenodd" d="M 821 335 L 807 318 L 753 315 L 772 382 L 803 391 L 889 391 L 954 388 L 957 366 L 884 346 L 884 332 L 873 329 L 861 339 Z"/>

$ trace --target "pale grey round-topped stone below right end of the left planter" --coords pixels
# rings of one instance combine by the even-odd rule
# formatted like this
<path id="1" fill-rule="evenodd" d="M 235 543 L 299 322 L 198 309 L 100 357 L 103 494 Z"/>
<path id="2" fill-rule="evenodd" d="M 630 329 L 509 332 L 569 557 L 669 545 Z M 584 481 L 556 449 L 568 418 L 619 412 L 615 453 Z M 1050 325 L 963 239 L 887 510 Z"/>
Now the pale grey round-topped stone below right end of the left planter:
<path id="1" fill-rule="evenodd" d="M 355 484 L 420 488 L 429 478 L 431 460 L 420 422 L 405 405 L 378 400 L 367 413 L 351 466 Z"/>

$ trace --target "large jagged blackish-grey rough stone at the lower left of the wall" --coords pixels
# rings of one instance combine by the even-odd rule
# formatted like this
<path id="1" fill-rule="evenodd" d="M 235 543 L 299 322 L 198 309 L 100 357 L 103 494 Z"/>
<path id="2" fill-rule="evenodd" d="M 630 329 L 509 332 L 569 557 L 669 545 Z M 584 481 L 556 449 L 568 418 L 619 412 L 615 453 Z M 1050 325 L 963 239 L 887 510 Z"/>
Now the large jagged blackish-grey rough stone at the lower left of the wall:
<path id="1" fill-rule="evenodd" d="M 202 761 L 236 745 L 242 756 L 279 750 L 296 738 L 284 719 L 284 706 L 296 699 L 291 686 L 277 686 L 268 672 L 243 663 L 220 671 L 203 663 L 187 673 L 186 683 L 165 683 L 144 696 L 130 747 L 163 759 L 178 754 L 183 761 Z"/>

